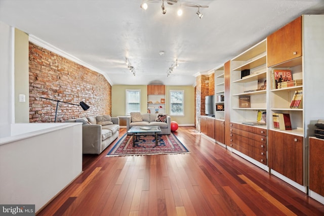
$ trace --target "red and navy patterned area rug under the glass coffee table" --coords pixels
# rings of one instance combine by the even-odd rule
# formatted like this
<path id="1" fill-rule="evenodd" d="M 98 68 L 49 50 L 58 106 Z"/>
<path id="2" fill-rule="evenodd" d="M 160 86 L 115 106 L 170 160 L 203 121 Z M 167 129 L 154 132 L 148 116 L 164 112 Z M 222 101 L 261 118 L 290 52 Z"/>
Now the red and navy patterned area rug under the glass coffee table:
<path id="1" fill-rule="evenodd" d="M 155 146 L 154 136 L 137 136 L 136 144 L 139 146 L 133 147 L 133 137 L 125 134 L 106 157 L 190 153 L 174 134 L 157 135 L 157 146 Z"/>

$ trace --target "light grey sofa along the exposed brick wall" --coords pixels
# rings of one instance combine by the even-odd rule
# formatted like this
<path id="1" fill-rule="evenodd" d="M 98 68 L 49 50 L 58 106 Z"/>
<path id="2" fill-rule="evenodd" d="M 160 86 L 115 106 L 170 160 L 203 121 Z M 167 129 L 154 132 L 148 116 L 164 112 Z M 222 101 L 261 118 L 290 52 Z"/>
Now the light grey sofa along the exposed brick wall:
<path id="1" fill-rule="evenodd" d="M 65 122 L 82 122 L 83 154 L 100 154 L 119 135 L 119 118 L 98 115 L 69 119 Z"/>

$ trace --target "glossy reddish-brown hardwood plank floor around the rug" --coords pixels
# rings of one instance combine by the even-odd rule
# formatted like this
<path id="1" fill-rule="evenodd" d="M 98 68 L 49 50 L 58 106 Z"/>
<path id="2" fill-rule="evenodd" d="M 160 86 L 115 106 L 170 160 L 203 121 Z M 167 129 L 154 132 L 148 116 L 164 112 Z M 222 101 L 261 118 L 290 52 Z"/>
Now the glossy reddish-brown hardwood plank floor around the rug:
<path id="1" fill-rule="evenodd" d="M 84 155 L 82 175 L 38 215 L 324 215 L 324 205 L 194 127 L 175 134 L 191 154 L 105 157 L 116 140 Z"/>

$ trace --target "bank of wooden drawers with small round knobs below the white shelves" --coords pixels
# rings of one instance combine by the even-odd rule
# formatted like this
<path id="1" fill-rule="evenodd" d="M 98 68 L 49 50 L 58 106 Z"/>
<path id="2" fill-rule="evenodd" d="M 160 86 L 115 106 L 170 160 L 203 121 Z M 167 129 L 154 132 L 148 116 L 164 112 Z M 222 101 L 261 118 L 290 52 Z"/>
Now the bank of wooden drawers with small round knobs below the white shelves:
<path id="1" fill-rule="evenodd" d="M 233 122 L 230 126 L 230 147 L 266 165 L 267 130 Z"/>

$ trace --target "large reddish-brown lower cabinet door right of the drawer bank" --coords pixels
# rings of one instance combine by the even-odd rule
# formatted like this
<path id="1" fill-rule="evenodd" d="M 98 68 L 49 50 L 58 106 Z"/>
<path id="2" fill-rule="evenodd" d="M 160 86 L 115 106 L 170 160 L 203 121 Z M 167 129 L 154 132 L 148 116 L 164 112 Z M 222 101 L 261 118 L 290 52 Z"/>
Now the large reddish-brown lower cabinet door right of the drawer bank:
<path id="1" fill-rule="evenodd" d="M 268 166 L 281 175 L 304 183 L 304 138 L 282 132 L 268 131 Z"/>

